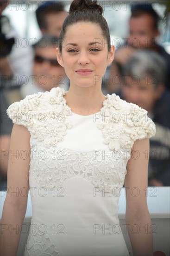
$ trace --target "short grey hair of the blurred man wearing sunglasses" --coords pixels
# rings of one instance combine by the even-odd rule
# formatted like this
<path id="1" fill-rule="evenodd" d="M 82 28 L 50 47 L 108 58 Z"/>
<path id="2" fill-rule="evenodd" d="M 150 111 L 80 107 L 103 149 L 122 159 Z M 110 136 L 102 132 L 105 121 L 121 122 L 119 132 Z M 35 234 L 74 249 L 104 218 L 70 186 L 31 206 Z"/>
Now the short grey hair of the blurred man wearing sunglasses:
<path id="1" fill-rule="evenodd" d="M 45 48 L 45 47 L 58 47 L 59 38 L 57 36 L 52 36 L 49 34 L 44 35 L 38 40 L 32 47 L 35 48 Z"/>

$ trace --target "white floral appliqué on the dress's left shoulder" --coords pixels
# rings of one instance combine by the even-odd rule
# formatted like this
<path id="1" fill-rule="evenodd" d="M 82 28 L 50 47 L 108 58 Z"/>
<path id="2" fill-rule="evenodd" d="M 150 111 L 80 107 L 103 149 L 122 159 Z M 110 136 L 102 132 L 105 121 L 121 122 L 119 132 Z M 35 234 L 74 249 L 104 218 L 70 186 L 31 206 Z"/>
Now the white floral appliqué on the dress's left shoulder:
<path id="1" fill-rule="evenodd" d="M 67 129 L 72 127 L 67 119 L 71 109 L 63 95 L 65 91 L 62 88 L 28 95 L 24 100 L 10 105 L 6 112 L 13 123 L 24 125 L 34 138 L 44 141 L 44 145 L 50 148 L 63 141 Z"/>

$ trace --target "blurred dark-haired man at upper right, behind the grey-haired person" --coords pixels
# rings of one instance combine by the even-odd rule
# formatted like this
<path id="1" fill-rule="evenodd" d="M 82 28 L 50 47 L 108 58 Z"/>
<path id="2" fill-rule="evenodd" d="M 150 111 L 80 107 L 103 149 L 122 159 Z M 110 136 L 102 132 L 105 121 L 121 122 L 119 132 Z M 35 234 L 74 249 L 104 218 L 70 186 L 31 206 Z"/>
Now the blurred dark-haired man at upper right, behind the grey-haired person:
<path id="1" fill-rule="evenodd" d="M 150 49 L 160 54 L 166 62 L 165 85 L 170 89 L 170 54 L 164 47 L 157 44 L 156 38 L 159 36 L 160 17 L 151 4 L 137 3 L 131 8 L 129 20 L 129 35 L 127 35 L 125 45 L 115 51 L 115 58 L 109 67 L 111 80 L 107 83 L 108 93 L 115 93 L 122 86 L 122 70 L 129 57 L 140 49 Z"/>

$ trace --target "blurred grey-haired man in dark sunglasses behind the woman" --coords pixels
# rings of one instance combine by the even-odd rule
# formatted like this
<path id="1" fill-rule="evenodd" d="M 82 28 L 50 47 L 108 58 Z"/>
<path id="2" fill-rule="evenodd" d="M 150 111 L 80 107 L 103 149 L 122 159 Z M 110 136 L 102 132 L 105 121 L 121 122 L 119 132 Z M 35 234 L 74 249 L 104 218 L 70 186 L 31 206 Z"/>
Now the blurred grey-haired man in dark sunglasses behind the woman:
<path id="1" fill-rule="evenodd" d="M 44 35 L 33 45 L 33 73 L 29 81 L 20 88 L 21 99 L 29 94 L 50 91 L 57 86 L 68 90 L 69 80 L 64 68 L 57 62 L 57 46 L 58 38 L 51 35 Z"/>

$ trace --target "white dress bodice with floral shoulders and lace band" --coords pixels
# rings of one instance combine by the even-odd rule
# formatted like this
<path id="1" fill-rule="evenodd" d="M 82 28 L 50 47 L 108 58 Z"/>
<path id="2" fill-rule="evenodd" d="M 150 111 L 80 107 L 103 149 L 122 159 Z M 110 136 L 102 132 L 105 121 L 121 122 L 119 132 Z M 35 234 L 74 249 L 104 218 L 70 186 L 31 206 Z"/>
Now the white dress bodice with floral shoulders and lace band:
<path id="1" fill-rule="evenodd" d="M 7 109 L 31 134 L 30 179 L 51 187 L 78 175 L 93 185 L 123 186 L 134 141 L 155 134 L 147 111 L 107 94 L 100 112 L 81 116 L 71 112 L 64 95 L 53 88 Z"/>

